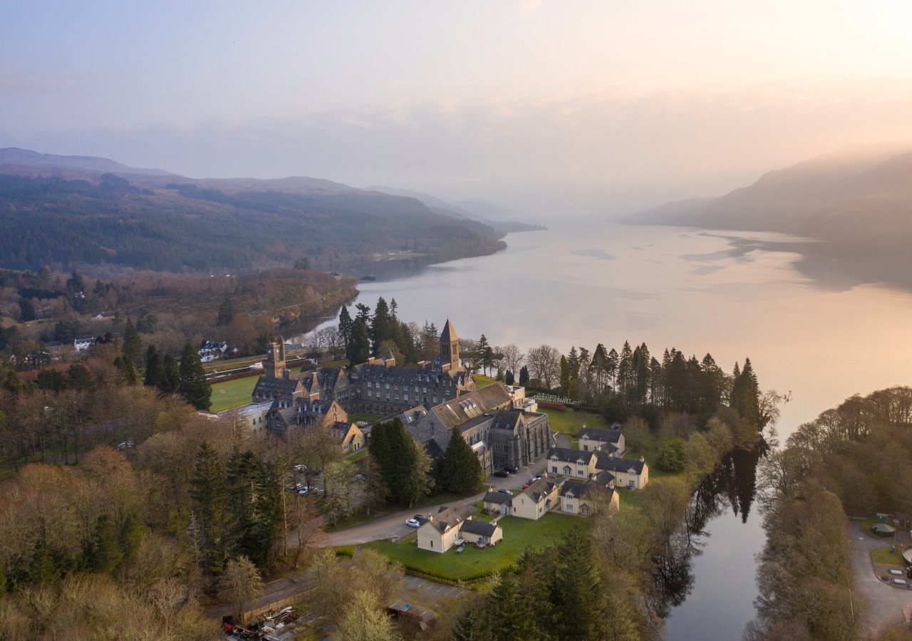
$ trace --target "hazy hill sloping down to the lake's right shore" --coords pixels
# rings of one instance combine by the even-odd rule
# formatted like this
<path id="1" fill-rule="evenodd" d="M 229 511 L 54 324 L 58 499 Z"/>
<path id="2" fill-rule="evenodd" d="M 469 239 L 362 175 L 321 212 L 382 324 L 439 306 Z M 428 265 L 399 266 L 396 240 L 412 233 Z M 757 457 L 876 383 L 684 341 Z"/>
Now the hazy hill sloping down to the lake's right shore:
<path id="1" fill-rule="evenodd" d="M 793 233 L 803 249 L 863 279 L 912 283 L 910 146 L 848 146 L 720 198 L 671 202 L 627 222 Z"/>

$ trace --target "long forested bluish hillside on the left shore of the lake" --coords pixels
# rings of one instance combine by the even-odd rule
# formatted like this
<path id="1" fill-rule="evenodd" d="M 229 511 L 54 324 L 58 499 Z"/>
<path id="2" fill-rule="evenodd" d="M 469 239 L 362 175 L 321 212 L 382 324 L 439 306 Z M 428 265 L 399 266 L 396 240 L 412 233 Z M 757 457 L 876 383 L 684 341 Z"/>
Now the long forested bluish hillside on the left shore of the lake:
<path id="1" fill-rule="evenodd" d="M 436 262 L 505 247 L 503 233 L 481 222 L 332 181 L 192 180 L 23 150 L 0 150 L 0 226 L 0 267 L 30 270 L 239 271 L 302 255 L 317 269 L 345 270 L 376 253 Z"/>

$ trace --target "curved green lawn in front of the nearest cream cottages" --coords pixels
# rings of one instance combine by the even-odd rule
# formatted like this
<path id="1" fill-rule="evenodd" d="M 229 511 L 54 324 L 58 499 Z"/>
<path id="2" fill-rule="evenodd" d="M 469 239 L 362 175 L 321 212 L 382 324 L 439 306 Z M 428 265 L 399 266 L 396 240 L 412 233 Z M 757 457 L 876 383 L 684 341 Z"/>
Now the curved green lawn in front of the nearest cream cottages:
<path id="1" fill-rule="evenodd" d="M 419 550 L 411 537 L 405 543 L 375 541 L 365 547 L 399 561 L 406 568 L 463 579 L 503 569 L 515 563 L 526 549 L 553 545 L 574 525 L 585 527 L 587 522 L 575 516 L 549 512 L 538 521 L 505 516 L 498 524 L 503 527 L 503 541 L 484 550 L 466 545 L 461 554 L 456 553 L 455 548 L 442 554 Z"/>

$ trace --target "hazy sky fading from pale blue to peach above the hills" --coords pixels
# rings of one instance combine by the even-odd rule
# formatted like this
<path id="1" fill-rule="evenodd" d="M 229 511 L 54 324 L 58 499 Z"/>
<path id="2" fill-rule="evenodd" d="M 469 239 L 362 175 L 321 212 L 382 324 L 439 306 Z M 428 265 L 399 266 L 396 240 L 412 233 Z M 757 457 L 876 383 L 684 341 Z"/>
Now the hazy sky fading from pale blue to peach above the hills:
<path id="1" fill-rule="evenodd" d="M 0 147 L 514 206 L 714 195 L 912 140 L 909 25 L 907 0 L 5 2 Z"/>

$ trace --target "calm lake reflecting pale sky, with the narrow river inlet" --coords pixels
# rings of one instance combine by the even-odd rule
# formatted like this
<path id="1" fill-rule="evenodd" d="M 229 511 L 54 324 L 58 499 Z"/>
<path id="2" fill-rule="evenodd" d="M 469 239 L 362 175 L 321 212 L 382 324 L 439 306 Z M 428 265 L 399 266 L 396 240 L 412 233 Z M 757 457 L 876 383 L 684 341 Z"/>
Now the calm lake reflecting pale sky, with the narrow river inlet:
<path id="1" fill-rule="evenodd" d="M 762 388 L 793 393 L 781 439 L 855 392 L 912 382 L 912 295 L 814 281 L 795 268 L 794 239 L 561 224 L 510 234 L 509 248 L 492 256 L 387 265 L 377 282 L 359 284 L 358 302 L 395 298 L 401 318 L 441 327 L 450 317 L 460 336 L 483 333 L 492 345 L 547 343 L 566 353 L 600 342 L 620 351 L 629 340 L 659 357 L 672 346 L 698 358 L 710 352 L 728 371 L 751 357 Z M 748 468 L 742 462 L 742 481 L 752 479 Z M 737 639 L 754 615 L 760 518 L 743 500 L 736 510 L 731 491 L 717 495 L 696 537 L 701 553 L 689 559 L 686 598 L 667 618 L 672 641 Z"/>

